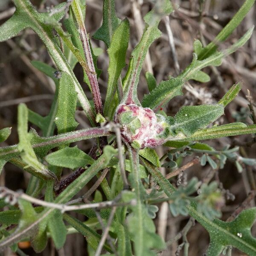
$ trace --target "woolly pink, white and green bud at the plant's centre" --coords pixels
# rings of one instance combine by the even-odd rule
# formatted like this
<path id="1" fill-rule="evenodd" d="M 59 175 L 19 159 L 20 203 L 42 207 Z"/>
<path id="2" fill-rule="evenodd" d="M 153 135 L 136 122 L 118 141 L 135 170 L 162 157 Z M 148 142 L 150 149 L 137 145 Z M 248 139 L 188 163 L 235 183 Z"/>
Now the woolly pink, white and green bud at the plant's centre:
<path id="1" fill-rule="evenodd" d="M 114 121 L 122 125 L 122 139 L 137 149 L 162 145 L 169 135 L 164 116 L 135 104 L 119 105 Z"/>

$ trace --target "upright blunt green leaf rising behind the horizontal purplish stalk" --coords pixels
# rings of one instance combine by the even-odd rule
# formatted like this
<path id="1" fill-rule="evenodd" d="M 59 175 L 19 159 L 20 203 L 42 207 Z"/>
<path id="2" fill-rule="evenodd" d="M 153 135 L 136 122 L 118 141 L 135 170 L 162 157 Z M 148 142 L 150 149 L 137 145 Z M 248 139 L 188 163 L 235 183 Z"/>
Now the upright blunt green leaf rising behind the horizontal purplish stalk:
<path id="1" fill-rule="evenodd" d="M 70 88 L 71 87 L 71 88 Z M 75 120 L 77 95 L 73 88 L 70 76 L 62 73 L 58 90 L 58 108 L 55 123 L 58 134 L 74 131 L 78 125 Z"/>

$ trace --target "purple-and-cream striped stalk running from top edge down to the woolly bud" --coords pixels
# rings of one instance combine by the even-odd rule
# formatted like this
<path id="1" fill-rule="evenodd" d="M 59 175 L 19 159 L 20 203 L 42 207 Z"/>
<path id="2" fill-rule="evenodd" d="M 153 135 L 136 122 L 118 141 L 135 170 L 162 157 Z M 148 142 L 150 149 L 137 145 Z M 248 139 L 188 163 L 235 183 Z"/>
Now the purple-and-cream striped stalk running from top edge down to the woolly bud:
<path id="1" fill-rule="evenodd" d="M 99 92 L 99 84 L 98 84 L 98 80 L 97 80 L 97 74 L 95 72 L 95 67 L 93 64 L 93 57 L 92 57 L 92 53 L 90 50 L 90 43 L 89 43 L 89 40 L 87 37 L 86 28 L 84 26 L 83 15 L 82 15 L 82 11 L 81 11 L 79 2 L 80 2 L 79 0 L 73 0 L 71 7 L 72 7 L 72 10 L 76 17 L 76 22 L 79 27 L 79 35 L 80 35 L 80 39 L 81 39 L 83 49 L 84 49 L 84 55 L 85 55 L 85 58 L 87 60 L 87 64 L 89 67 L 89 71 L 88 70 L 85 70 L 85 71 L 86 71 L 86 74 L 90 81 L 91 88 L 92 88 L 93 102 L 95 105 L 96 113 L 100 113 L 103 115 L 102 100 L 101 100 L 101 96 L 100 96 L 100 92 Z"/>

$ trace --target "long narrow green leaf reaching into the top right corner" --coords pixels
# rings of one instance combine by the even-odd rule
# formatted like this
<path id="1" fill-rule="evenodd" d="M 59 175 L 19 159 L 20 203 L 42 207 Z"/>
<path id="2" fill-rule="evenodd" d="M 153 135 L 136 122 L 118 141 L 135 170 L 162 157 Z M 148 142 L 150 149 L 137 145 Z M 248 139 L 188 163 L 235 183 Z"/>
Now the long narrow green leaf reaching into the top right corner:
<path id="1" fill-rule="evenodd" d="M 246 0 L 244 4 L 241 6 L 239 11 L 233 16 L 229 23 L 221 30 L 221 32 L 209 43 L 206 47 L 201 48 L 200 52 L 198 52 L 198 59 L 203 60 L 208 58 L 210 55 L 215 53 L 219 42 L 225 41 L 232 32 L 236 29 L 236 27 L 241 23 L 244 19 L 245 15 L 250 11 L 252 6 L 254 5 L 255 0 Z"/>

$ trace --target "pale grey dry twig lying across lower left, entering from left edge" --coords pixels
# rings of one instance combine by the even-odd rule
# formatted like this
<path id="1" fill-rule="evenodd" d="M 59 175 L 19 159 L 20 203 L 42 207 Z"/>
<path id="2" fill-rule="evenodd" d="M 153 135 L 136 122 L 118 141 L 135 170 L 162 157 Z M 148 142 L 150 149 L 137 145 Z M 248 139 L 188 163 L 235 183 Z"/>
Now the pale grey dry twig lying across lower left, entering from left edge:
<path id="1" fill-rule="evenodd" d="M 60 209 L 61 212 L 67 211 L 75 211 L 81 209 L 89 209 L 89 208 L 109 208 L 115 206 L 126 206 L 126 205 L 136 205 L 136 200 L 133 199 L 129 203 L 118 203 L 116 200 L 113 201 L 105 201 L 100 203 L 93 204 L 79 204 L 79 205 L 67 205 L 67 204 L 55 204 L 52 202 L 46 202 L 37 198 L 33 198 L 32 196 L 26 195 L 23 192 L 15 192 L 11 189 L 7 189 L 6 187 L 0 187 L 0 198 L 6 198 L 6 201 L 9 204 L 16 204 L 19 198 L 29 201 L 33 204 L 38 204 L 44 207 L 49 207 L 53 209 Z"/>

